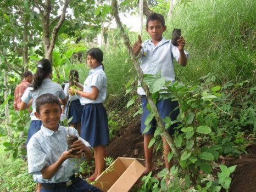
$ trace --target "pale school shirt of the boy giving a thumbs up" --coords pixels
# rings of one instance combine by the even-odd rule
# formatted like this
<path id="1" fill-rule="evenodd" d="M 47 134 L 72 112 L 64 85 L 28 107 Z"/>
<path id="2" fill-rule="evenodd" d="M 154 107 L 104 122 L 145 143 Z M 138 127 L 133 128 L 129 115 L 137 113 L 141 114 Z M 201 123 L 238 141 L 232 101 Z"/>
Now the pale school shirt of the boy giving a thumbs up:
<path id="1" fill-rule="evenodd" d="M 151 40 L 147 40 L 142 43 L 141 52 L 141 69 L 143 74 L 155 75 L 158 71 L 161 71 L 166 81 L 175 82 L 173 58 L 178 61 L 180 51 L 171 43 L 170 39 L 163 37 L 157 46 Z M 189 54 L 186 51 L 185 54 L 189 58 Z M 139 95 L 145 95 L 140 82 L 138 83 L 137 92 Z"/>

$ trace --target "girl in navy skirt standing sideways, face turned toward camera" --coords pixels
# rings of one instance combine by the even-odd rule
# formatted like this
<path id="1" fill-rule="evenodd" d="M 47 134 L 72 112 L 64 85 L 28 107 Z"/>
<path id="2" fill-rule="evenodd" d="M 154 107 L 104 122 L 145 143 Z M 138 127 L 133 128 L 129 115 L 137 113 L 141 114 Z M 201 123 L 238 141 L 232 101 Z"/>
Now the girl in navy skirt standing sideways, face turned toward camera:
<path id="1" fill-rule="evenodd" d="M 104 108 L 107 91 L 107 77 L 102 64 L 101 49 L 92 48 L 87 52 L 87 64 L 91 68 L 84 87 L 76 83 L 83 91 L 70 88 L 69 94 L 81 96 L 84 105 L 81 120 L 81 137 L 94 149 L 95 171 L 89 180 L 95 180 L 105 169 L 105 145 L 109 142 L 108 117 Z"/>

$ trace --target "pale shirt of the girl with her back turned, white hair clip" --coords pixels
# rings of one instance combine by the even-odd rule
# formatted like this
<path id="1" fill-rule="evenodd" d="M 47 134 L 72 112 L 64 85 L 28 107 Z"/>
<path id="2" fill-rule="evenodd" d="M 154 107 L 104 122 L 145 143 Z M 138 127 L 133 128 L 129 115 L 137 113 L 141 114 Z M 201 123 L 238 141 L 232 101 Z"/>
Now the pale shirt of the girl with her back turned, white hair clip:
<path id="1" fill-rule="evenodd" d="M 21 97 L 21 100 L 24 101 L 24 103 L 28 104 L 30 99 L 33 99 L 32 102 L 32 112 L 30 114 L 31 121 L 38 120 L 38 118 L 35 116 L 36 111 L 36 98 L 38 98 L 42 94 L 51 93 L 55 95 L 56 97 L 60 98 L 61 100 L 66 98 L 66 95 L 62 89 L 62 86 L 60 86 L 58 83 L 54 83 L 51 79 L 45 78 L 42 81 L 42 84 L 39 88 L 36 89 L 36 91 L 33 91 L 33 87 L 27 87 L 26 91 L 24 92 L 23 96 Z"/>

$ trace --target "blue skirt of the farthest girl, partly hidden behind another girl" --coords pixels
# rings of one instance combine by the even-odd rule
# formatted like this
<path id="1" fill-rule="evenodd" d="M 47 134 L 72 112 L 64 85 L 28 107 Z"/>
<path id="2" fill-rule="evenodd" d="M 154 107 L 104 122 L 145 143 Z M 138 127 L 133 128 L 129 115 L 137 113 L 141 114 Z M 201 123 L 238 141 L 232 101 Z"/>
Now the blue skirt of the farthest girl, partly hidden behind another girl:
<path id="1" fill-rule="evenodd" d="M 74 100 L 71 101 L 70 106 L 69 106 L 70 101 L 68 102 L 68 108 L 66 111 L 66 114 L 68 115 L 68 120 L 70 117 L 73 117 L 72 121 L 70 123 L 80 123 L 81 122 L 81 116 L 82 116 L 82 105 L 80 103 L 80 100 Z M 69 111 L 68 111 L 69 109 Z"/>

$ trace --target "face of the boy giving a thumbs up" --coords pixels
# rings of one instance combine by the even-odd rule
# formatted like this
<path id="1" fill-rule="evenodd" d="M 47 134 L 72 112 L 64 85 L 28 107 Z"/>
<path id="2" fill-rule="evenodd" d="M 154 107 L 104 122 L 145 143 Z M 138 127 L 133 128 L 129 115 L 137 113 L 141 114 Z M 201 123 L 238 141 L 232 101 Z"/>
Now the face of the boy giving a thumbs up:
<path id="1" fill-rule="evenodd" d="M 148 21 L 148 26 L 146 31 L 151 36 L 153 41 L 161 41 L 163 32 L 166 30 L 166 26 L 162 25 L 162 22 L 159 20 L 150 20 Z"/>

